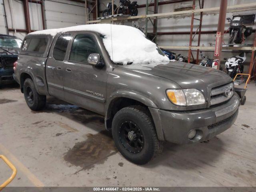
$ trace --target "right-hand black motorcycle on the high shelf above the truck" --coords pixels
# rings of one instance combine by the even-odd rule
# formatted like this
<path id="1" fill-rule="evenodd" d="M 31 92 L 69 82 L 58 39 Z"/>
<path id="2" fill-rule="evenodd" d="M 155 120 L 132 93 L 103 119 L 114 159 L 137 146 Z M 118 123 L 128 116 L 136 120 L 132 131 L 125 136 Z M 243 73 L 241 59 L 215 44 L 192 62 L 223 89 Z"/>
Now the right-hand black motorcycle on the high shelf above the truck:
<path id="1" fill-rule="evenodd" d="M 138 5 L 137 2 L 130 2 L 130 0 L 120 0 L 120 6 L 117 9 L 118 14 L 137 16 L 138 15 Z"/>

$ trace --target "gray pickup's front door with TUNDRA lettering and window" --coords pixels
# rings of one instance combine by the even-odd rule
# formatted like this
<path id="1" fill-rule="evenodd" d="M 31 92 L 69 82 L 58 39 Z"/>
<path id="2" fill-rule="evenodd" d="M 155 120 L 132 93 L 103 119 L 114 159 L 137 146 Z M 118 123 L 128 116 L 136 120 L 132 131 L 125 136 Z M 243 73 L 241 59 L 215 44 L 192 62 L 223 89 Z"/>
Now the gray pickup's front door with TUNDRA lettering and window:
<path id="1" fill-rule="evenodd" d="M 96 68 L 87 61 L 92 53 L 102 56 L 97 38 L 90 32 L 74 35 L 68 62 L 64 62 L 64 92 L 67 102 L 104 114 L 107 66 Z"/>

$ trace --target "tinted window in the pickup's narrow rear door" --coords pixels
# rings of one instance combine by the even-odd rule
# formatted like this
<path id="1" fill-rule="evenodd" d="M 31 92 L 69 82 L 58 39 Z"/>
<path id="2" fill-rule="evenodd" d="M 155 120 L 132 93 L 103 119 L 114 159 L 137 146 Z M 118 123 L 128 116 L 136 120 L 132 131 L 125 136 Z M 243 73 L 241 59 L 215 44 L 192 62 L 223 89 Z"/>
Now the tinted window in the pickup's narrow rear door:
<path id="1" fill-rule="evenodd" d="M 52 56 L 56 60 L 63 61 L 65 58 L 66 50 L 68 47 L 68 42 L 71 39 L 70 34 L 60 35 L 56 40 Z"/>

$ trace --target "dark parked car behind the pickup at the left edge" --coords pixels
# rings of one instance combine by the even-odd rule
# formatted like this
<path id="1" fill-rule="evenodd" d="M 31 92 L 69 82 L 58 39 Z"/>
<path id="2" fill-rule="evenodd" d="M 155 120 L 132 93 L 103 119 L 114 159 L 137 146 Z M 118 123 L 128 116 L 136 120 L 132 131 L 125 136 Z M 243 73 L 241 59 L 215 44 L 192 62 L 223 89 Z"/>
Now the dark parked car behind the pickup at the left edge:
<path id="1" fill-rule="evenodd" d="M 16 36 L 0 34 L 0 85 L 13 80 L 14 62 L 21 44 L 22 40 Z"/>

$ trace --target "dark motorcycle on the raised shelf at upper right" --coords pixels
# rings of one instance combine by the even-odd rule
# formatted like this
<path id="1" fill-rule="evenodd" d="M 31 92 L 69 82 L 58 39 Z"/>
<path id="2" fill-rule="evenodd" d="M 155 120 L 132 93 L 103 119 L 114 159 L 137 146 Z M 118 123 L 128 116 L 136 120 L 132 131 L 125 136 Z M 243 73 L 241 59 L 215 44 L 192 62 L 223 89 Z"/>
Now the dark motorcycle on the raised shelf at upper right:
<path id="1" fill-rule="evenodd" d="M 236 16 L 233 19 L 227 18 L 228 22 L 230 22 L 229 28 L 229 44 L 240 44 L 242 43 L 248 36 L 252 34 L 252 27 L 246 27 L 243 23 L 242 17 Z"/>

